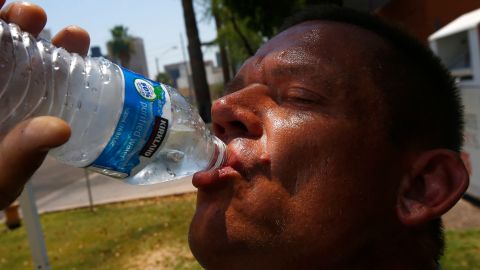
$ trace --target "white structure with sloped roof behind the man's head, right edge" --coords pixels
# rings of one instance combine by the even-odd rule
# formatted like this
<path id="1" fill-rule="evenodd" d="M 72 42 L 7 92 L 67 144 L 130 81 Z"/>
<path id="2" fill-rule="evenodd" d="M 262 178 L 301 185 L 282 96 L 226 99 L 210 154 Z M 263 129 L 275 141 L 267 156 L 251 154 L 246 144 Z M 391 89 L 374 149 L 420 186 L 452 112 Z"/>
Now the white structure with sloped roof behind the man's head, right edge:
<path id="1" fill-rule="evenodd" d="M 466 13 L 428 39 L 454 76 L 465 107 L 462 159 L 470 173 L 467 194 L 480 200 L 480 9 Z"/>

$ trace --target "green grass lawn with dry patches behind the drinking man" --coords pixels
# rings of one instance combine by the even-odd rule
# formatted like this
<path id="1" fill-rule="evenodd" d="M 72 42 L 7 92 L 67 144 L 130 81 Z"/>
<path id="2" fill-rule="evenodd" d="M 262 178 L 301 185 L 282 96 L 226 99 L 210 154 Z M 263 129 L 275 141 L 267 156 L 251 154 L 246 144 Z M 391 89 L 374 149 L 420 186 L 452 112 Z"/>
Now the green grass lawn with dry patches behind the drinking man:
<path id="1" fill-rule="evenodd" d="M 201 269 L 187 244 L 192 194 L 41 217 L 52 269 Z M 448 231 L 444 270 L 480 269 L 480 228 Z M 0 227 L 0 269 L 33 269 L 25 228 Z"/>

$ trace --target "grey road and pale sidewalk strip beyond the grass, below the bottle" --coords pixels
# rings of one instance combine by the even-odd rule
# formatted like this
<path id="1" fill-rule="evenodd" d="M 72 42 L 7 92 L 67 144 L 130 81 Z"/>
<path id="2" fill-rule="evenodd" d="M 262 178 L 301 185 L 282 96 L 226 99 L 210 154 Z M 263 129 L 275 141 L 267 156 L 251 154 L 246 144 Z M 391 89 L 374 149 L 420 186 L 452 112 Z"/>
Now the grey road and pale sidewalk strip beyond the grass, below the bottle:
<path id="1" fill-rule="evenodd" d="M 97 173 L 90 173 L 93 204 L 193 192 L 191 178 L 148 186 L 133 186 Z M 40 213 L 89 206 L 85 170 L 47 158 L 32 177 Z M 0 212 L 3 219 L 3 212 Z"/>

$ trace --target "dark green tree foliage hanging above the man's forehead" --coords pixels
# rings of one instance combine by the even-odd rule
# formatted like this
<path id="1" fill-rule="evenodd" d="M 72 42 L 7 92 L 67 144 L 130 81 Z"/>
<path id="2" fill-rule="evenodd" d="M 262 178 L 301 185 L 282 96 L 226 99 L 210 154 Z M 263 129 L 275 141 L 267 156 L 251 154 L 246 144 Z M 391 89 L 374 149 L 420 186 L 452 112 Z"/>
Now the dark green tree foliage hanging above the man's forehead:
<path id="1" fill-rule="evenodd" d="M 233 73 L 276 34 L 285 19 L 307 5 L 337 4 L 342 0 L 203 0 L 207 18 L 220 19 L 215 44 L 225 46 Z"/>

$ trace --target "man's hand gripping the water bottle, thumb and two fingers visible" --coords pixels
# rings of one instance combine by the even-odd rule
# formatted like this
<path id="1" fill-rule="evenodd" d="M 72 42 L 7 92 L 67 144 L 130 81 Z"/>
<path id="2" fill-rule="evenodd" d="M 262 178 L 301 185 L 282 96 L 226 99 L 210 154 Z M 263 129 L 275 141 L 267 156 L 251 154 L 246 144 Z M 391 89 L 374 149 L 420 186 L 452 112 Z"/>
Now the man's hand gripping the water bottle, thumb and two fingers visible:
<path id="1" fill-rule="evenodd" d="M 4 3 L 0 0 L 0 8 Z M 43 9 L 29 3 L 12 3 L 2 8 L 0 18 L 33 36 L 40 33 L 47 21 Z M 86 55 L 90 38 L 83 29 L 70 26 L 60 31 L 52 43 Z M 69 137 L 70 127 L 63 120 L 41 116 L 19 123 L 0 141 L 0 209 L 18 197 L 49 149 L 65 143 Z"/>

